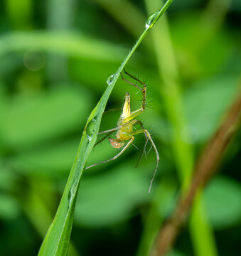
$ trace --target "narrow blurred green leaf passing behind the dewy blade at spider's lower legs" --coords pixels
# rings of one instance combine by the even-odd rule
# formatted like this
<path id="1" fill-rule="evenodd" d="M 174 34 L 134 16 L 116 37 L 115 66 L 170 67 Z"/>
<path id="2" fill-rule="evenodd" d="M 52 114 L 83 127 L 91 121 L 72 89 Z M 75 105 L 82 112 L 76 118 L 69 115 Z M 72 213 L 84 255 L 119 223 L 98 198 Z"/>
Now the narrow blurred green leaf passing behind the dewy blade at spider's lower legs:
<path id="1" fill-rule="evenodd" d="M 83 119 L 85 120 L 85 118 Z M 73 164 L 73 155 L 77 150 L 77 146 L 77 137 L 75 137 L 74 139 L 50 144 L 49 146 L 44 145 L 41 149 L 19 151 L 18 155 L 9 158 L 7 164 L 11 169 L 21 174 L 63 178 L 68 176 L 68 170 Z M 91 154 L 88 159 L 90 163 L 97 163 L 102 159 L 110 158 L 114 149 L 109 146 L 109 143 L 103 142 L 101 147 L 96 146 L 93 151 L 94 154 Z"/>

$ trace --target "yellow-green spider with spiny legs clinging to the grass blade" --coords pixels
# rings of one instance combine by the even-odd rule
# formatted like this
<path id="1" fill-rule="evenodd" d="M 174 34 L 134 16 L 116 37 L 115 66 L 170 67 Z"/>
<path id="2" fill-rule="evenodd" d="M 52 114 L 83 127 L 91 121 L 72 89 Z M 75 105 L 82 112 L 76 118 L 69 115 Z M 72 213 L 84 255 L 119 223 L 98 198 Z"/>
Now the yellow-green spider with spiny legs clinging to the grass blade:
<path id="1" fill-rule="evenodd" d="M 151 192 L 151 185 L 152 185 L 152 182 L 154 181 L 154 177 L 156 175 L 156 171 L 157 171 L 157 168 L 158 168 L 158 165 L 159 165 L 159 153 L 156 149 L 156 145 L 154 144 L 154 141 L 151 139 L 151 134 L 148 132 L 147 129 L 144 128 L 141 121 L 135 119 L 139 114 L 144 112 L 145 107 L 146 107 L 146 84 L 144 82 L 141 82 L 139 79 L 135 78 L 133 75 L 130 75 L 129 73 L 127 73 L 126 70 L 124 70 L 124 74 L 126 74 L 130 78 L 136 80 L 137 82 L 139 82 L 143 86 L 141 88 L 138 85 L 135 85 L 134 83 L 125 79 L 123 74 L 121 73 L 122 80 L 124 80 L 125 82 L 128 82 L 130 85 L 133 85 L 134 87 L 136 87 L 137 89 L 139 89 L 142 92 L 141 108 L 139 110 L 135 110 L 134 112 L 131 112 L 131 97 L 129 95 L 129 92 L 127 92 L 125 97 L 124 97 L 124 105 L 123 105 L 123 108 L 122 108 L 122 114 L 119 117 L 119 120 L 117 122 L 117 127 L 115 127 L 114 129 L 109 129 L 105 132 L 98 133 L 98 134 L 106 134 L 106 135 L 105 135 L 105 137 L 100 139 L 99 142 L 97 142 L 95 144 L 95 146 L 96 146 L 100 142 L 103 142 L 107 137 L 109 137 L 110 134 L 112 134 L 112 132 L 117 131 L 117 133 L 115 134 L 115 138 L 109 137 L 109 143 L 114 147 L 114 149 L 122 148 L 122 150 L 119 152 L 119 154 L 112 157 L 112 159 L 108 159 L 108 160 L 102 161 L 102 162 L 97 163 L 97 164 L 92 164 L 90 166 L 85 167 L 85 169 L 89 169 L 93 166 L 97 166 L 99 164 L 105 164 L 109 161 L 117 159 L 129 147 L 129 145 L 132 144 L 132 142 L 134 141 L 134 138 L 135 138 L 134 136 L 136 134 L 141 134 L 142 133 L 142 134 L 145 135 L 146 142 L 144 144 L 144 150 L 142 151 L 142 154 L 139 157 L 137 165 L 139 164 L 139 161 L 141 161 L 141 158 L 142 158 L 142 156 L 143 156 L 143 154 L 146 150 L 146 145 L 147 145 L 148 140 L 151 142 L 151 145 L 153 146 L 153 148 L 156 152 L 156 169 L 154 171 L 153 177 L 151 178 L 151 183 L 150 183 L 150 186 L 149 186 L 149 193 L 150 193 Z M 141 129 L 133 130 L 133 127 L 135 127 L 137 124 L 139 124 Z M 125 145 L 126 142 L 127 142 L 127 144 Z"/>

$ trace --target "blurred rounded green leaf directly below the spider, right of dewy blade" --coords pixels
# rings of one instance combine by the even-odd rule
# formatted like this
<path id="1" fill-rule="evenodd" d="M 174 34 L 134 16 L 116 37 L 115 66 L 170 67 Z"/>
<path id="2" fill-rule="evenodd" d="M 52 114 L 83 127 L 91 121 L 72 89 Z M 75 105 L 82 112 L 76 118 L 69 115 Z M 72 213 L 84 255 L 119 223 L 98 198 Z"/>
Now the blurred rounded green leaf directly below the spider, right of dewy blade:
<path id="1" fill-rule="evenodd" d="M 90 228 L 112 225 L 128 218 L 135 206 L 149 201 L 144 166 L 133 167 L 133 161 L 125 161 L 106 174 L 82 181 L 75 223 Z"/>

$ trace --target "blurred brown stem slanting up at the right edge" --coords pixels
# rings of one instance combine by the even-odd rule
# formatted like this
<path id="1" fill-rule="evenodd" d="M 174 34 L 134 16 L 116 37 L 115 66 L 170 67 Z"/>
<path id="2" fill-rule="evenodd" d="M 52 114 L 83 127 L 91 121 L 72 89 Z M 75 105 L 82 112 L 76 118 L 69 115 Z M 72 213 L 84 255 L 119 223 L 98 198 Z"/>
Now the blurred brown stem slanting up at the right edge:
<path id="1" fill-rule="evenodd" d="M 227 148 L 230 139 L 237 131 L 241 116 L 241 91 L 227 112 L 227 116 L 208 142 L 207 146 L 200 155 L 191 185 L 183 198 L 178 202 L 171 218 L 164 223 L 159 231 L 155 242 L 155 253 L 153 255 L 165 255 L 173 245 L 181 225 L 185 222 L 188 212 L 191 209 L 196 192 L 205 186 L 210 176 L 215 172 L 223 152 Z"/>

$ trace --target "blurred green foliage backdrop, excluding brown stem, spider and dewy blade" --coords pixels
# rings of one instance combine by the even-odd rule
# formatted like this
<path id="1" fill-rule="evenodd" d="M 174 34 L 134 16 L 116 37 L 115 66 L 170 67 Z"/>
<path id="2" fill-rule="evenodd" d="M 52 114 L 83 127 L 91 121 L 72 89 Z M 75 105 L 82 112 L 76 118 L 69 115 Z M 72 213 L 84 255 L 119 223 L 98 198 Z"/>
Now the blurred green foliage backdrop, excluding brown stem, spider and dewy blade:
<path id="1" fill-rule="evenodd" d="M 58 207 L 91 110 L 160 0 L 4 0 L 0 3 L 0 254 L 37 255 Z M 119 159 L 82 176 L 69 256 L 149 255 L 161 223 L 190 181 L 193 164 L 237 95 L 241 1 L 174 0 L 126 69 L 146 81 L 141 122 L 156 156 L 136 162 L 138 135 Z M 136 88 L 119 79 L 107 110 Z M 104 115 L 100 130 L 116 126 Z M 196 200 L 168 256 L 240 255 L 238 132 L 218 174 Z M 87 165 L 117 154 L 95 147 Z"/>

